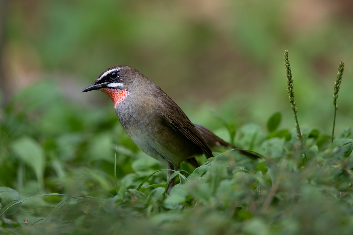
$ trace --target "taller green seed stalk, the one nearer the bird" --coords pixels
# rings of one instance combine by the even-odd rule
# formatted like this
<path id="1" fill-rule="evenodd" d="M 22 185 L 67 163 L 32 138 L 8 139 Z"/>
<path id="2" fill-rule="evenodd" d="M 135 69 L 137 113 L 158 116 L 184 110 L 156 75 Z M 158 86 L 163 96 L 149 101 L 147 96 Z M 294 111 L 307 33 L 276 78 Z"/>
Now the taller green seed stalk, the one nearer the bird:
<path id="1" fill-rule="evenodd" d="M 292 110 L 294 112 L 295 129 L 297 130 L 297 135 L 298 135 L 298 139 L 300 141 L 300 146 L 301 146 L 301 149 L 304 153 L 305 160 L 307 162 L 308 159 L 307 159 L 305 151 L 304 151 L 304 140 L 303 140 L 303 136 L 301 135 L 301 132 L 300 132 L 300 127 L 299 127 L 299 122 L 298 122 L 298 117 L 297 117 L 298 110 L 297 110 L 297 107 L 295 107 L 293 74 L 291 72 L 291 65 L 289 64 L 288 50 L 285 50 L 285 67 L 286 67 L 288 97 L 289 97 L 289 101 L 292 104 Z"/>

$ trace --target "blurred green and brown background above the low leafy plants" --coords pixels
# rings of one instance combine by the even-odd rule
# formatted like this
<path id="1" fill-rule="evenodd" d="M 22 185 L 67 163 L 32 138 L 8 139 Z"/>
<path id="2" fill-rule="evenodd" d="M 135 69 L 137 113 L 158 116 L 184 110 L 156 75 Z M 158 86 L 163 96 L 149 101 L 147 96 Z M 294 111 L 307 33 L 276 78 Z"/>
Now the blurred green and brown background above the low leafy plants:
<path id="1" fill-rule="evenodd" d="M 351 1 L 2 0 L 0 8 L 2 106 L 17 91 L 50 81 L 70 102 L 109 105 L 114 115 L 103 94 L 80 92 L 104 69 L 127 64 L 193 122 L 220 127 L 205 112 L 211 110 L 237 125 L 264 126 L 280 111 L 291 126 L 283 65 L 288 49 L 303 128 L 330 130 L 341 59 L 337 130 L 353 116 Z"/>

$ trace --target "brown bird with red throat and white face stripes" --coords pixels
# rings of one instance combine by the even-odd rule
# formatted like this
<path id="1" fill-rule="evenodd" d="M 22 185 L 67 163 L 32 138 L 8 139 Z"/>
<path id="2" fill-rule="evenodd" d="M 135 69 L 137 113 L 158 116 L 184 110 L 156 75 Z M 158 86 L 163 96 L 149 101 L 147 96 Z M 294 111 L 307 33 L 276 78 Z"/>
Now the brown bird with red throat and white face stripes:
<path id="1" fill-rule="evenodd" d="M 183 161 L 197 168 L 195 156 L 213 157 L 211 148 L 238 148 L 204 126 L 193 124 L 160 87 L 130 66 L 107 68 L 82 92 L 92 90 L 101 90 L 112 99 L 121 126 L 137 147 L 166 164 L 167 181 Z M 251 158 L 258 157 L 240 151 Z M 175 177 L 169 181 L 167 194 L 174 181 Z"/>

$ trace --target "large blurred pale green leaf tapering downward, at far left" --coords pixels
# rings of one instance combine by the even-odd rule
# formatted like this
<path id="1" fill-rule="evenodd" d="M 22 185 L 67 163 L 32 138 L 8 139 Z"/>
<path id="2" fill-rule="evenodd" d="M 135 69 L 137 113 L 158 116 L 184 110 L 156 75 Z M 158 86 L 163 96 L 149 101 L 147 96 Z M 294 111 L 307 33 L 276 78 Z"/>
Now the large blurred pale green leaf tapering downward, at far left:
<path id="1" fill-rule="evenodd" d="M 24 136 L 12 143 L 16 155 L 30 166 L 36 174 L 39 188 L 44 187 L 43 174 L 46 166 L 44 150 L 33 138 Z"/>

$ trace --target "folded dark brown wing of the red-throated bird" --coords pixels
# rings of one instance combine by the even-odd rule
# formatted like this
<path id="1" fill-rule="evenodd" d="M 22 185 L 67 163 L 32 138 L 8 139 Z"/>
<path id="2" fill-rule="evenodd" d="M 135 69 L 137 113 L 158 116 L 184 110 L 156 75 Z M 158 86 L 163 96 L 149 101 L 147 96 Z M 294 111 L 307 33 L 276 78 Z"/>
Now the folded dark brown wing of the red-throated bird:
<path id="1" fill-rule="evenodd" d="M 206 141 L 183 110 L 181 110 L 180 107 L 175 104 L 175 102 L 169 98 L 168 95 L 161 99 L 160 102 L 164 105 L 164 107 L 167 107 L 162 110 L 161 115 L 170 123 L 170 125 L 172 125 L 175 130 L 186 136 L 192 143 L 199 146 L 207 158 L 213 157 L 212 151 L 208 147 Z"/>

